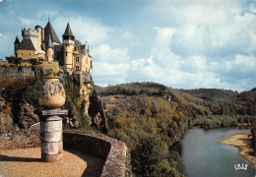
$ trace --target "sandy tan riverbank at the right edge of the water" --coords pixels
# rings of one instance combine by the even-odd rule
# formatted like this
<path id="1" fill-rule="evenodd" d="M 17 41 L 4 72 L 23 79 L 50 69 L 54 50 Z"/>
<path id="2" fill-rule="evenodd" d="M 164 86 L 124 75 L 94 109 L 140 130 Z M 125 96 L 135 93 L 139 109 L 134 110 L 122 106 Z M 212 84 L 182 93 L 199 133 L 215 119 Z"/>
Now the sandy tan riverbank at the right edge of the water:
<path id="1" fill-rule="evenodd" d="M 238 155 L 250 162 L 256 168 L 256 157 L 253 156 L 253 148 L 251 148 L 251 134 L 238 134 L 224 137 L 222 144 L 234 146 L 238 148 Z"/>

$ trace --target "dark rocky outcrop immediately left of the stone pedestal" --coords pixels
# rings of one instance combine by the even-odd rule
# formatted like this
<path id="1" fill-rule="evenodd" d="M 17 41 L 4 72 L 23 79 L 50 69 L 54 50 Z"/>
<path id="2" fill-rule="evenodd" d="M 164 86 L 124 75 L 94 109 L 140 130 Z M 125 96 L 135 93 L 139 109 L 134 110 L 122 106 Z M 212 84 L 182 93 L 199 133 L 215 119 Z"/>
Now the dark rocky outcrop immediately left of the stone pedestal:
<path id="1" fill-rule="evenodd" d="M 34 114 L 34 108 L 29 103 L 21 105 L 21 110 L 18 115 L 19 126 L 23 129 L 29 129 L 32 124 L 39 121 L 39 118 Z"/>

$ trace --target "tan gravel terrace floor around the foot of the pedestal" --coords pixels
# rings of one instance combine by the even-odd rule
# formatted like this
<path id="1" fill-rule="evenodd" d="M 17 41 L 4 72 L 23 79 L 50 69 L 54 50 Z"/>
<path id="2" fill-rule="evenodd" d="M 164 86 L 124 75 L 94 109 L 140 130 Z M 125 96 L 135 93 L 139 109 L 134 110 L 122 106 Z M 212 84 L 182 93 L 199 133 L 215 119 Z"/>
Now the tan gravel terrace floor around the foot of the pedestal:
<path id="1" fill-rule="evenodd" d="M 63 162 L 41 162 L 40 148 L 0 150 L 1 177 L 100 176 L 104 161 L 75 150 L 63 152 Z"/>

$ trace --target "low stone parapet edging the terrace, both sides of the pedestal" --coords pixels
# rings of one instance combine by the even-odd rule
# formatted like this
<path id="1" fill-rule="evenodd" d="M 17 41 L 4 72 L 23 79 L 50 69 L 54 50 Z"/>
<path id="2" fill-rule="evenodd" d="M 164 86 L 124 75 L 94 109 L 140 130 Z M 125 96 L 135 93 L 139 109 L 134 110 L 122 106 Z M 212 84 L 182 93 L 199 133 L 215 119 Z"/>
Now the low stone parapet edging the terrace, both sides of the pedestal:
<path id="1" fill-rule="evenodd" d="M 0 149 L 40 147 L 40 131 L 0 134 Z M 101 176 L 125 176 L 126 146 L 104 136 L 85 133 L 63 133 L 64 148 L 77 149 L 105 160 Z"/>

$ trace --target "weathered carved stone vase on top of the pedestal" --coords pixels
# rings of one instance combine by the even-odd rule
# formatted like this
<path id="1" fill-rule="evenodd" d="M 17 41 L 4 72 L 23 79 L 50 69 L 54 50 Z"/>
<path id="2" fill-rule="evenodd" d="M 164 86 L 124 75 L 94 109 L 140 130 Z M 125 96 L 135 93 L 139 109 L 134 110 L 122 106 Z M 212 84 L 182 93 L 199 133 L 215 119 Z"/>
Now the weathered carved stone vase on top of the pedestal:
<path id="1" fill-rule="evenodd" d="M 45 83 L 39 90 L 39 104 L 47 108 L 59 108 L 65 104 L 66 93 L 65 89 L 59 82 L 57 76 L 45 76 Z"/>

